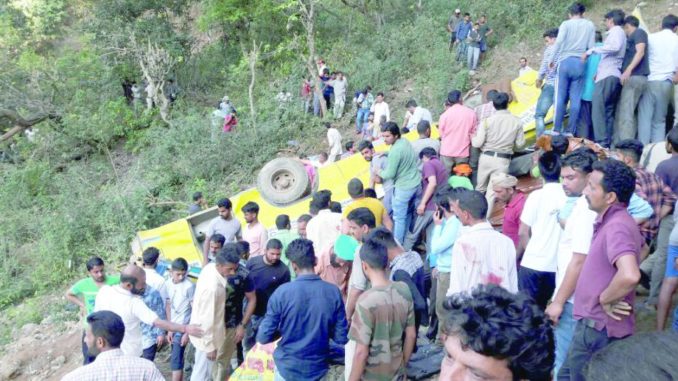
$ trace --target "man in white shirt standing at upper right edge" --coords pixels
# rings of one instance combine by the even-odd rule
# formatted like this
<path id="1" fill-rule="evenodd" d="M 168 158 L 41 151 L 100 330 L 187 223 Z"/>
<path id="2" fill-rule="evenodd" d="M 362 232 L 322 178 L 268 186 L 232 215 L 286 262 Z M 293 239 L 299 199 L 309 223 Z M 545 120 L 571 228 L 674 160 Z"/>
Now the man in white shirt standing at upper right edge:
<path id="1" fill-rule="evenodd" d="M 650 75 L 638 104 L 638 140 L 643 144 L 664 140 L 666 113 L 678 83 L 678 17 L 662 20 L 662 31 L 648 37 Z"/>

